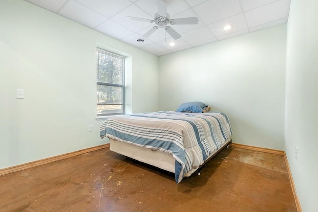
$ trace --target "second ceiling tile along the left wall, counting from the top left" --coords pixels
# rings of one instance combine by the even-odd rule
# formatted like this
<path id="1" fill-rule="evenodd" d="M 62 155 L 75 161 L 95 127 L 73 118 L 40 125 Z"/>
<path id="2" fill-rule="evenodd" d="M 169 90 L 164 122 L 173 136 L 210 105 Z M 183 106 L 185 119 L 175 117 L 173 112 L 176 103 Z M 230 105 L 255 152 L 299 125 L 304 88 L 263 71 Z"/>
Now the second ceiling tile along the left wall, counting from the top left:
<path id="1" fill-rule="evenodd" d="M 67 2 L 58 13 L 91 28 L 107 19 L 73 0 Z"/>

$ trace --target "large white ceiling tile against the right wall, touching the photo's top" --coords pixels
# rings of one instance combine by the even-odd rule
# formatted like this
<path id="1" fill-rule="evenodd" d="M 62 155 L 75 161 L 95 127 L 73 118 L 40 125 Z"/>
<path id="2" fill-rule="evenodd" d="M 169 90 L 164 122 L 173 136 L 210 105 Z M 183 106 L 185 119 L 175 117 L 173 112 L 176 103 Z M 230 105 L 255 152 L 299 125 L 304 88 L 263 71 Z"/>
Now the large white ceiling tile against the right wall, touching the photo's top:
<path id="1" fill-rule="evenodd" d="M 290 0 L 279 0 L 245 12 L 248 26 L 254 27 L 286 18 L 289 11 L 288 5 Z"/>

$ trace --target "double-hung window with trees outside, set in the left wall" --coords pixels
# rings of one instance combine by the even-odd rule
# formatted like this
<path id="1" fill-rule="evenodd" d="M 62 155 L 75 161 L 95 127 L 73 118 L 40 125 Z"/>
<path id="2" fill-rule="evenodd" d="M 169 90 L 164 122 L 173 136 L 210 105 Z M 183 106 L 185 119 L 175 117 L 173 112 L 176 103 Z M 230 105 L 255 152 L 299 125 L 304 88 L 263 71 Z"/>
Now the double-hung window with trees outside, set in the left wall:
<path id="1" fill-rule="evenodd" d="M 97 116 L 124 113 L 125 57 L 97 48 Z"/>

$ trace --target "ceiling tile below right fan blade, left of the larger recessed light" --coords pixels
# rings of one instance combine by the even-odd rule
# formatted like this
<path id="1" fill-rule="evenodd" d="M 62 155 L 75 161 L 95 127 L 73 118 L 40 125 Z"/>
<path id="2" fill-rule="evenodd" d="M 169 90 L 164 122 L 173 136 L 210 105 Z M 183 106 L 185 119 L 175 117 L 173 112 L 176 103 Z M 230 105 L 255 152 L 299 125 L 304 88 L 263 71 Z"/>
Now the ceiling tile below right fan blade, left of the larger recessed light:
<path id="1" fill-rule="evenodd" d="M 189 44 L 197 43 L 214 37 L 206 26 L 182 33 L 181 36 L 182 39 Z"/>

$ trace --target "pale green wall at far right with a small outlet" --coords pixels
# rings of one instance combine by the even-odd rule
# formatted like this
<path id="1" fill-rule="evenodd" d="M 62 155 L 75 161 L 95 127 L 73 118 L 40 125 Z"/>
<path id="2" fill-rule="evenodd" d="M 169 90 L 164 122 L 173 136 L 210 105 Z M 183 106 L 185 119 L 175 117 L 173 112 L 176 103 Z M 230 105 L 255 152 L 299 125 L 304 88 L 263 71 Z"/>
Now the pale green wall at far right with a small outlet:
<path id="1" fill-rule="evenodd" d="M 303 212 L 318 210 L 317 23 L 317 0 L 292 0 L 287 24 L 284 150 Z"/>

